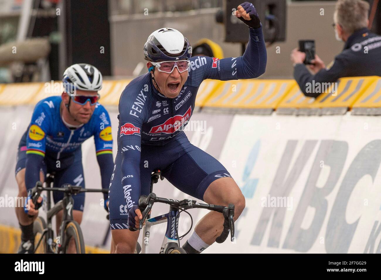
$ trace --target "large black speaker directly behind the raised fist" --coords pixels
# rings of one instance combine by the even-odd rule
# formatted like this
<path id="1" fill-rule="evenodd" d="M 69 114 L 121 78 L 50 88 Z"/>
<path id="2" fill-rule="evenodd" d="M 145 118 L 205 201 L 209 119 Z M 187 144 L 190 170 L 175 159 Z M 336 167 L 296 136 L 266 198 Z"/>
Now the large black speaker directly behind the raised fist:
<path id="1" fill-rule="evenodd" d="M 263 26 L 266 42 L 279 42 L 286 39 L 286 0 L 252 0 Z M 249 30 L 245 24 L 233 15 L 242 0 L 223 2 L 223 23 L 225 42 L 247 43 Z"/>

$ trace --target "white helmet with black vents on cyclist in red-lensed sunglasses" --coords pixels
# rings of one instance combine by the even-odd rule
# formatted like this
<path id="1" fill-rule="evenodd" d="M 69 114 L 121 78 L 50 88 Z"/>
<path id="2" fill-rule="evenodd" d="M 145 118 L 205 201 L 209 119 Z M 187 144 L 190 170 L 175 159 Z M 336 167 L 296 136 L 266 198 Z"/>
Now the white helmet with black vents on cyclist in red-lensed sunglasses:
<path id="1" fill-rule="evenodd" d="M 73 83 L 78 90 L 98 91 L 102 88 L 102 74 L 91 64 L 74 64 L 65 70 L 62 82 Z"/>

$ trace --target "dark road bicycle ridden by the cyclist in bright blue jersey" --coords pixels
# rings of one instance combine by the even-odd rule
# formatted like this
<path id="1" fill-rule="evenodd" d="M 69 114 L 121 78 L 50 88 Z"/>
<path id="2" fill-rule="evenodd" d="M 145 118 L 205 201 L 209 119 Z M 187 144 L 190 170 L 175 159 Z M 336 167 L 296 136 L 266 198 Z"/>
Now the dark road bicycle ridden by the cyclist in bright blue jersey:
<path id="1" fill-rule="evenodd" d="M 31 191 L 31 197 L 36 210 L 41 206 L 37 205 L 37 198 L 43 191 L 47 191 L 46 199 L 46 224 L 45 219 L 38 216 L 33 223 L 33 233 L 35 234 L 35 251 L 34 253 L 40 254 L 59 254 L 68 253 L 70 240 L 74 240 L 75 252 L 77 254 L 85 253 L 85 242 L 83 241 L 82 230 L 77 221 L 73 218 L 73 195 L 80 192 L 102 192 L 108 193 L 108 189 L 83 189 L 81 186 L 72 186 L 70 184 L 63 184 L 60 188 L 52 187 L 54 182 L 54 173 L 48 174 L 45 179 L 45 187 L 38 181 L 36 186 Z M 64 198 L 51 207 L 50 192 L 58 191 L 64 192 Z M 59 227 L 59 233 L 56 238 L 53 238 L 54 231 L 52 229 L 52 219 L 59 212 L 63 210 L 62 222 Z M 36 243 L 37 242 L 37 243 Z"/>

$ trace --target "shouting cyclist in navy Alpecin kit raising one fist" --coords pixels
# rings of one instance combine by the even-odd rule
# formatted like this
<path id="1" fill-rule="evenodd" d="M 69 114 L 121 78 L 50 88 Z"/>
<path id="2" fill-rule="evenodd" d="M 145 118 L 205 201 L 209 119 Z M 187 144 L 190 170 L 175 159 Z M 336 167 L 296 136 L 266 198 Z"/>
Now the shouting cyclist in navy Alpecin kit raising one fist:
<path id="1" fill-rule="evenodd" d="M 139 196 L 148 195 L 151 172 L 160 169 L 176 188 L 206 203 L 234 203 L 237 219 L 245 198 L 226 168 L 193 146 L 182 129 L 194 111 L 201 82 L 207 78 L 256 78 L 266 69 L 261 22 L 251 3 L 238 6 L 235 16 L 250 27 L 243 56 L 192 57 L 187 38 L 176 29 L 153 32 L 144 45 L 148 73 L 131 81 L 119 100 L 118 152 L 109 188 L 112 253 L 133 253 L 142 219 Z M 223 230 L 223 216 L 211 211 L 184 244 L 200 253 Z"/>

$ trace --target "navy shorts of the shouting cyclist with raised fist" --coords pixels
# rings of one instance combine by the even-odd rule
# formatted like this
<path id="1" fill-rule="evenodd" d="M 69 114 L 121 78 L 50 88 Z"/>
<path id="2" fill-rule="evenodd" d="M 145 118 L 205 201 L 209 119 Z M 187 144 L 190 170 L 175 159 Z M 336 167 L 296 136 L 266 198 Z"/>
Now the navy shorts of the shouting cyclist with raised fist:
<path id="1" fill-rule="evenodd" d="M 121 213 L 125 205 L 120 166 L 120 150 L 115 158 L 115 171 L 109 188 L 109 211 L 111 229 L 128 229 L 128 216 Z M 149 168 L 145 167 L 148 163 Z M 173 186 L 192 197 L 203 200 L 205 190 L 211 182 L 229 176 L 226 168 L 214 157 L 192 145 L 185 133 L 180 133 L 163 146 L 141 145 L 140 180 L 141 195 L 148 195 L 151 174 L 161 170 L 162 175 Z"/>

